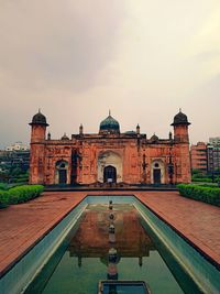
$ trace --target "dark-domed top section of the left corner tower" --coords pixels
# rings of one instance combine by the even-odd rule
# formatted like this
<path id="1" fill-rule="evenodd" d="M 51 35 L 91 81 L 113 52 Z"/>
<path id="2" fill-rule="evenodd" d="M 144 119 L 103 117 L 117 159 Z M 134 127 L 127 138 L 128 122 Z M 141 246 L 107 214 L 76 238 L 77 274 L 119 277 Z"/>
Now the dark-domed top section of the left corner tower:
<path id="1" fill-rule="evenodd" d="M 45 116 L 41 113 L 41 110 L 33 116 L 32 122 L 29 124 L 32 127 L 31 142 L 41 142 L 45 140 L 46 127 L 48 127 L 48 123 L 46 122 Z"/>

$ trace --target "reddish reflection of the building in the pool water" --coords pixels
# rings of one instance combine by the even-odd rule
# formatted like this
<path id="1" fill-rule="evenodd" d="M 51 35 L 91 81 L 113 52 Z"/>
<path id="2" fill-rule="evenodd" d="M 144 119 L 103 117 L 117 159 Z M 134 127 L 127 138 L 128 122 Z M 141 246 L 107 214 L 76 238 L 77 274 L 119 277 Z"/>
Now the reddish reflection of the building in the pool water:
<path id="1" fill-rule="evenodd" d="M 119 261 L 120 258 L 136 258 L 140 266 L 143 257 L 148 257 L 150 251 L 155 250 L 132 206 L 114 205 L 113 211 L 109 214 L 108 206 L 99 205 L 90 206 L 85 214 L 78 231 L 70 240 L 68 252 L 70 257 L 78 258 L 79 266 L 86 258 L 99 258 L 108 265 L 111 243 L 118 252 Z"/>

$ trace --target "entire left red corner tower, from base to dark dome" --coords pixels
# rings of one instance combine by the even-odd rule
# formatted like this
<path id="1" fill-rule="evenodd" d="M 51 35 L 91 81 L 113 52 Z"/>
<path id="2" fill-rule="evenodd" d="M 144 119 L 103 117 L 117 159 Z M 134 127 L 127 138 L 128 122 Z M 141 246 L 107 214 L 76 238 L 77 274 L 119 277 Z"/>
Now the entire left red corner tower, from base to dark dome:
<path id="1" fill-rule="evenodd" d="M 44 184 L 44 150 L 45 150 L 45 135 L 46 135 L 46 127 L 48 126 L 46 122 L 46 118 L 44 115 L 36 113 L 32 122 L 29 123 L 31 126 L 31 157 L 30 157 L 30 184 Z"/>

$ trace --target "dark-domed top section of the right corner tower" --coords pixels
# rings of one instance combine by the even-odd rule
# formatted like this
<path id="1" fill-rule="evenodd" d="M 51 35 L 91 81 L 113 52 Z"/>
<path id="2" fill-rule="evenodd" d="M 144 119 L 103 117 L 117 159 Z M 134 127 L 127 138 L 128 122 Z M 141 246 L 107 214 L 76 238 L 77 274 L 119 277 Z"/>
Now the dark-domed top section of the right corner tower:
<path id="1" fill-rule="evenodd" d="M 188 122 L 187 116 L 182 112 L 182 109 L 179 109 L 179 112 L 174 117 L 174 122 L 170 124 L 174 127 L 175 142 L 182 142 L 182 143 L 189 142 L 189 135 L 188 135 L 189 124 L 190 122 Z"/>

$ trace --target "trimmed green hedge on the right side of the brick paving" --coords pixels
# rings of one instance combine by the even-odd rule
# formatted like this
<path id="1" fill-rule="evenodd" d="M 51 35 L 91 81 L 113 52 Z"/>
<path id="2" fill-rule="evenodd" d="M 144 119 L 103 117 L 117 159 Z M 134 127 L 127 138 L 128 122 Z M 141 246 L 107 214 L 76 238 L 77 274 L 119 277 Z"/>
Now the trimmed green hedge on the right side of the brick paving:
<path id="1" fill-rule="evenodd" d="M 182 196 L 220 206 L 220 188 L 190 184 L 177 185 Z"/>

